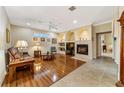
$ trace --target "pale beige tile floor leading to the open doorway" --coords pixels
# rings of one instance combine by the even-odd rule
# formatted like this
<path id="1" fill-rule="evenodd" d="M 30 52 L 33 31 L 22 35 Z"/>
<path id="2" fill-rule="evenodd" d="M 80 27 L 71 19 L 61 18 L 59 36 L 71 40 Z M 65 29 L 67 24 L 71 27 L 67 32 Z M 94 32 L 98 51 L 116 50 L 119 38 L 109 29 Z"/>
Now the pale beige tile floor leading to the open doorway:
<path id="1" fill-rule="evenodd" d="M 89 61 L 51 87 L 115 87 L 117 64 L 111 58 Z"/>

